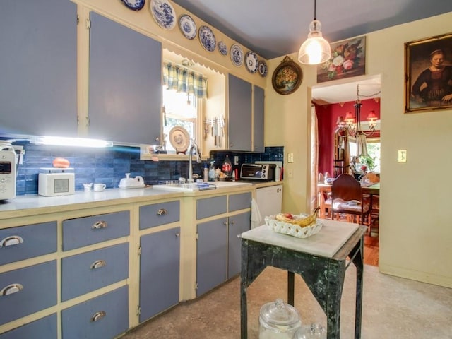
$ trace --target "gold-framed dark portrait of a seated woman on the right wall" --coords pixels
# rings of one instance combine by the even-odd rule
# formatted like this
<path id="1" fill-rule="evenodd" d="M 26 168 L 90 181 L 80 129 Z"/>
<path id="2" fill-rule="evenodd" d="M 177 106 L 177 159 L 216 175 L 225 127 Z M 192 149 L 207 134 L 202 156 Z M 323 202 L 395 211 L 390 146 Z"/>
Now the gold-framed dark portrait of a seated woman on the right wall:
<path id="1" fill-rule="evenodd" d="M 405 113 L 452 109 L 452 33 L 405 43 Z"/>

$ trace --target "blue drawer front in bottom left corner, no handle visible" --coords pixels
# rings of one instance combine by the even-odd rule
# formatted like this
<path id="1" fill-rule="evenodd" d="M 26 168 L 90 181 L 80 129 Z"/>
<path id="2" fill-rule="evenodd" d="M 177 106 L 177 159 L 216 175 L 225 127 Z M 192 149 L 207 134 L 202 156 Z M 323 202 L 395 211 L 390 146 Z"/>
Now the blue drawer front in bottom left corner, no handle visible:
<path id="1" fill-rule="evenodd" d="M 27 323 L 11 331 L 0 334 L 0 339 L 45 338 L 57 339 L 57 314 Z"/>

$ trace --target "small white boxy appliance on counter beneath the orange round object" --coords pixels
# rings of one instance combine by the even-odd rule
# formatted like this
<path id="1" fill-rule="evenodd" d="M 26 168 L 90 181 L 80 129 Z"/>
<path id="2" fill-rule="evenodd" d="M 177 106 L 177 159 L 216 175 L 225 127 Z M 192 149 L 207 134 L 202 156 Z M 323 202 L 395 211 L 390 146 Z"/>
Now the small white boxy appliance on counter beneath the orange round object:
<path id="1" fill-rule="evenodd" d="M 37 194 L 40 196 L 69 196 L 76 191 L 73 168 L 40 168 Z"/>

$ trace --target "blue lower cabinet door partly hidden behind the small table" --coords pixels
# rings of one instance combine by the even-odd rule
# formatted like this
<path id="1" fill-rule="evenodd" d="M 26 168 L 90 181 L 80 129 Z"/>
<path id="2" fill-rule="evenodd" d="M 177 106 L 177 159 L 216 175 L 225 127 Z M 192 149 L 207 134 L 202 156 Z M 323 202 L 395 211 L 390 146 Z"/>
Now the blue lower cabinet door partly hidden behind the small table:
<path id="1" fill-rule="evenodd" d="M 251 228 L 251 212 L 230 216 L 227 233 L 227 278 L 240 273 L 242 268 L 242 239 L 239 235 Z"/>

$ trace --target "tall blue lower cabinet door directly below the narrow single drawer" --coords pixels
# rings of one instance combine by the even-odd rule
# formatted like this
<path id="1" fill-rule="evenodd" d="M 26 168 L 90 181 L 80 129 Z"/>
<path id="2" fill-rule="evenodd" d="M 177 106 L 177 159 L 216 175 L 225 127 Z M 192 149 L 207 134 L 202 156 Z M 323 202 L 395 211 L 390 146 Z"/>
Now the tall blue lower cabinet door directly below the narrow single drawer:
<path id="1" fill-rule="evenodd" d="M 179 303 L 180 227 L 141 237 L 140 323 Z"/>

